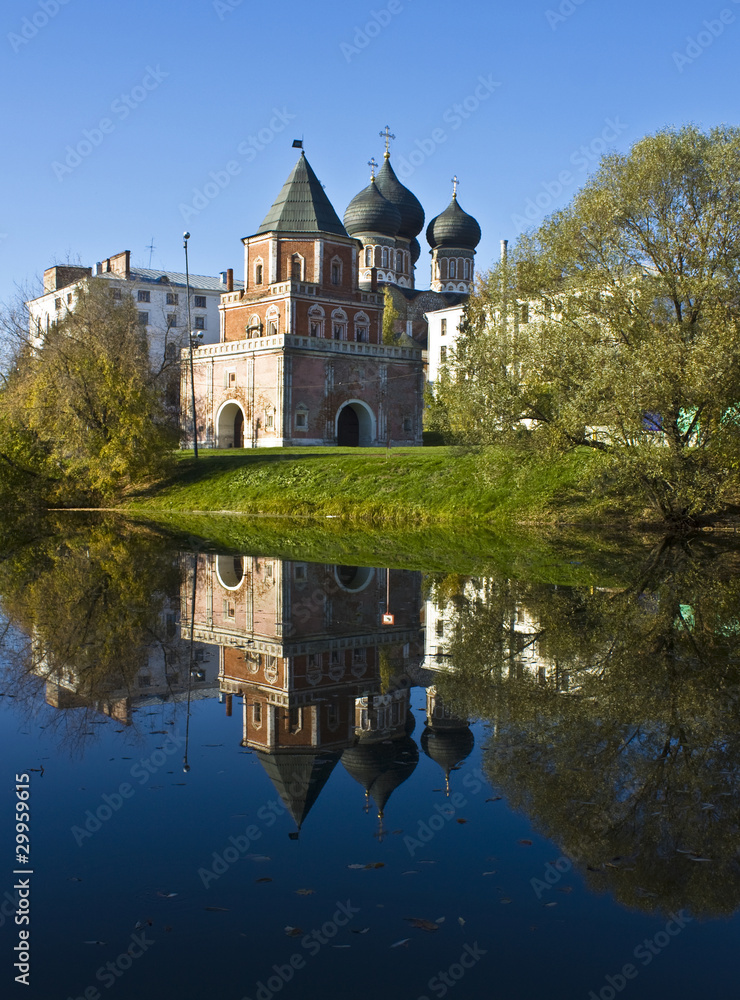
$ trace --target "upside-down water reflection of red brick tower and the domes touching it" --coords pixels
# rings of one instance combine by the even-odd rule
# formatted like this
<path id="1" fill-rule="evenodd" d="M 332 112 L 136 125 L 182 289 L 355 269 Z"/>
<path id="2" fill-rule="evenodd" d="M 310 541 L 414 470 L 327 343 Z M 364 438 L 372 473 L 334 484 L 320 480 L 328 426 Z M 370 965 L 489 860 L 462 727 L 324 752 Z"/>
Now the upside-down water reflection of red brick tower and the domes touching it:
<path id="1" fill-rule="evenodd" d="M 190 573 L 183 635 L 190 630 Z M 258 556 L 199 557 L 195 639 L 220 647 L 221 691 L 229 703 L 243 699 L 243 744 L 258 751 L 299 829 L 340 755 L 358 777 L 357 761 L 377 756 L 366 746 L 386 741 L 373 779 L 387 775 L 385 784 L 373 789 L 358 777 L 379 809 L 418 758 L 413 743 L 412 751 L 396 742 L 408 741 L 408 686 L 384 687 L 421 659 L 421 576 L 387 574 Z M 388 592 L 392 625 L 382 623 Z M 413 760 L 410 769 L 394 770 L 396 751 Z"/>

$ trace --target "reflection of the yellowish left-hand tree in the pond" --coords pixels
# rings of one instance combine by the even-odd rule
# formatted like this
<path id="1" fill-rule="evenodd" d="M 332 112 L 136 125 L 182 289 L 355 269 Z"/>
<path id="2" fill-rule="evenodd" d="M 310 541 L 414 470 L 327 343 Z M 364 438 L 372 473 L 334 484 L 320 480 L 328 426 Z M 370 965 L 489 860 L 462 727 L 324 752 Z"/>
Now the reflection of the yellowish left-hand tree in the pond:
<path id="1" fill-rule="evenodd" d="M 169 546 L 118 522 L 66 531 L 18 548 L 0 563 L 0 606 L 11 627 L 0 654 L 4 685 L 31 708 L 47 684 L 69 692 L 80 712 L 57 713 L 75 742 L 92 706 L 131 691 L 149 653 L 178 656 L 176 633 L 163 621 L 168 595 L 178 599 L 179 567 Z"/>

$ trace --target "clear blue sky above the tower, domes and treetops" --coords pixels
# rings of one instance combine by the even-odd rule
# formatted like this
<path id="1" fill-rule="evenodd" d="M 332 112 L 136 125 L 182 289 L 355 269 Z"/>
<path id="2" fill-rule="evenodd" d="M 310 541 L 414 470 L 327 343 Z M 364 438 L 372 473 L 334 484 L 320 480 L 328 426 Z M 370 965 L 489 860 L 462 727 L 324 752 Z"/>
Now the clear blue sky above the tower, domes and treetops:
<path id="1" fill-rule="evenodd" d="M 294 138 L 340 216 L 382 162 L 499 241 L 605 148 L 738 122 L 740 0 L 5 0 L 0 300 L 53 263 L 242 271 Z M 254 141 L 253 141 L 254 140 Z M 423 244 L 418 287 L 428 287 Z"/>

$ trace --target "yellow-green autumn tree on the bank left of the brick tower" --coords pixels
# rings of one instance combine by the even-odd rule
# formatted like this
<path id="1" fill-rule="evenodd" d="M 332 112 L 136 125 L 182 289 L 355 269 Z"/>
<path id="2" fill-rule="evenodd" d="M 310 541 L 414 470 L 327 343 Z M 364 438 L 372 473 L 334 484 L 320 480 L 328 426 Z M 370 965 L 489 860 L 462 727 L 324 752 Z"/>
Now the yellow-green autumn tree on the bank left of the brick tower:
<path id="1" fill-rule="evenodd" d="M 75 309 L 4 376 L 4 471 L 46 501 L 89 504 L 156 475 L 174 442 L 160 375 L 130 296 L 82 285 Z"/>

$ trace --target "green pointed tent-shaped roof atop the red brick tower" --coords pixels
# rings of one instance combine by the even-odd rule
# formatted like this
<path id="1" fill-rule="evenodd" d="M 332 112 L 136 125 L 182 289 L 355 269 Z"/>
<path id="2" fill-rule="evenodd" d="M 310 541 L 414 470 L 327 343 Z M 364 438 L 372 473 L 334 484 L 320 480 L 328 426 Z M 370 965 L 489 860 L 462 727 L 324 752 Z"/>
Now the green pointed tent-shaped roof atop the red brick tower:
<path id="1" fill-rule="evenodd" d="M 301 153 L 256 235 L 261 233 L 347 235 L 305 153 Z"/>

